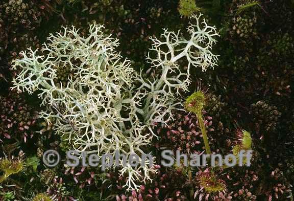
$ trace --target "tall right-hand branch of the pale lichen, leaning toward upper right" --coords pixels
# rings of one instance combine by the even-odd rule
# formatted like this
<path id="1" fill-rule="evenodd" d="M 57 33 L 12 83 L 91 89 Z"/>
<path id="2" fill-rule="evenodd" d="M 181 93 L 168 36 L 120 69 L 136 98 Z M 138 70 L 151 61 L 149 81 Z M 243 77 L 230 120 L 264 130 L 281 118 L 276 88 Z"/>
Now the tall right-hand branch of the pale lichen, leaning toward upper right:
<path id="1" fill-rule="evenodd" d="M 181 91 L 187 92 L 190 84 L 190 68 L 214 68 L 217 62 L 217 56 L 211 52 L 213 44 L 216 42 L 215 37 L 218 36 L 215 27 L 208 26 L 203 19 L 200 22 L 202 14 L 190 17 L 195 20 L 195 24 L 190 24 L 187 28 L 190 34 L 189 39 L 185 39 L 173 31 L 164 30 L 161 35 L 163 40 L 151 38 L 153 46 L 148 55 L 148 61 L 152 64 L 152 68 L 161 72 L 153 76 L 153 79 L 145 81 L 142 76 L 139 80 L 142 83 L 140 88 L 147 91 L 147 98 L 144 103 L 144 114 L 146 124 L 154 121 L 162 122 L 165 114 L 182 106 L 182 103 L 175 101 L 176 95 Z M 201 25 L 203 24 L 203 26 Z M 150 55 L 154 53 L 155 58 Z M 187 68 L 181 68 L 178 61 L 186 59 Z M 164 122 L 162 122 L 164 123 Z"/>

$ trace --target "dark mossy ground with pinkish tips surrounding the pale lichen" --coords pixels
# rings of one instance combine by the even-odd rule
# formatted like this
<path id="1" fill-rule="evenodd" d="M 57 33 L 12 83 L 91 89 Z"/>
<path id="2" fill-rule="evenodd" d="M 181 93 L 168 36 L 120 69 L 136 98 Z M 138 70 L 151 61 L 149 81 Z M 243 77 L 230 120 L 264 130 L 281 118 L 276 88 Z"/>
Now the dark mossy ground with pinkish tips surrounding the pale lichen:
<path id="1" fill-rule="evenodd" d="M 9 69 L 11 60 L 19 57 L 18 53 L 22 50 L 41 46 L 50 33 L 58 32 L 62 26 L 74 25 L 83 32 L 93 21 L 105 24 L 107 33 L 119 39 L 118 50 L 122 55 L 132 60 L 136 70 L 147 70 L 150 66 L 145 62 L 145 55 L 151 47 L 149 37 L 160 37 L 162 28 L 185 29 L 188 24 L 187 18 L 181 17 L 178 11 L 177 0 L 82 0 L 74 3 L 23 0 L 24 3 L 30 2 L 26 8 L 26 21 L 15 19 L 13 23 L 10 23 L 11 14 L 4 14 L 8 2 L 4 0 L 0 3 L 0 44 L 4 47 L 0 51 L 0 101 L 14 93 L 9 88 L 17 71 Z M 252 2 L 257 1 L 195 1 L 208 24 L 215 25 L 220 33 L 217 46 L 213 49 L 220 56 L 214 70 L 205 73 L 199 69 L 191 71 L 189 91 L 195 92 L 198 87 L 205 86 L 210 94 L 203 114 L 212 151 L 230 152 L 235 140 L 235 128 L 241 127 L 252 134 L 252 166 L 230 168 L 224 172 L 216 170 L 226 183 L 228 192 L 232 192 L 227 197 L 242 201 L 289 200 L 288 191 L 294 184 L 294 63 L 291 57 L 294 52 L 294 6 L 290 1 L 258 1 L 255 6 L 251 5 Z M 183 68 L 185 65 L 187 63 L 180 63 Z M 190 94 L 183 96 L 186 98 Z M 22 94 L 16 101 L 26 102 L 35 111 L 42 109 L 37 93 L 33 98 Z M 33 117 L 35 111 L 28 111 L 27 115 Z M 13 112 L 10 111 L 10 114 Z M 17 114 L 16 111 L 14 114 Z M 1 118 L 7 115 L 4 110 L 0 111 Z M 194 117 L 190 114 L 176 115 L 182 119 L 171 121 L 169 127 L 161 129 L 161 138 L 155 139 L 154 146 L 149 148 L 158 156 L 161 142 L 167 147 L 185 146 L 183 149 L 190 150 L 187 144 L 196 143 L 190 139 L 198 139 L 200 135 L 191 136 L 200 130 Z M 11 117 L 12 122 L 17 122 L 13 115 Z M 185 118 L 191 119 L 194 124 L 191 125 Z M 38 158 L 37 150 L 56 149 L 65 157 L 64 147 L 60 146 L 62 140 L 54 135 L 51 126 L 44 126 L 42 120 L 38 120 L 36 125 L 30 128 L 26 142 L 23 137 L 14 135 L 17 126 L 8 131 L 10 139 L 4 135 L 3 130 L 7 128 L 0 128 L 0 139 L 3 141 L 0 142 L 1 154 L 4 152 L 11 157 L 22 150 L 25 153 L 22 157 L 35 159 Z M 166 136 L 171 128 L 179 131 L 182 125 L 185 125 L 182 130 L 187 130 L 189 139 L 184 134 Z M 38 132 L 40 130 L 42 133 Z M 198 140 L 195 151 L 202 151 Z M 40 158 L 39 161 L 29 161 L 34 163 L 0 184 L 2 196 L 14 192 L 16 200 L 26 200 L 32 193 L 49 192 L 62 198 L 60 200 L 115 200 L 116 195 L 121 200 L 123 196 L 140 200 L 140 193 L 143 200 L 194 200 L 193 193 L 199 188 L 199 184 L 194 182 L 197 181 L 197 169 L 161 167 L 159 174 L 153 176 L 153 183 L 144 184 L 144 190 L 132 195 L 122 187 L 125 178 L 116 171 L 105 173 L 97 168 L 81 171 L 82 167 L 68 169 L 60 165 L 49 174 Z M 31 168 L 33 166 L 37 168 Z"/>

